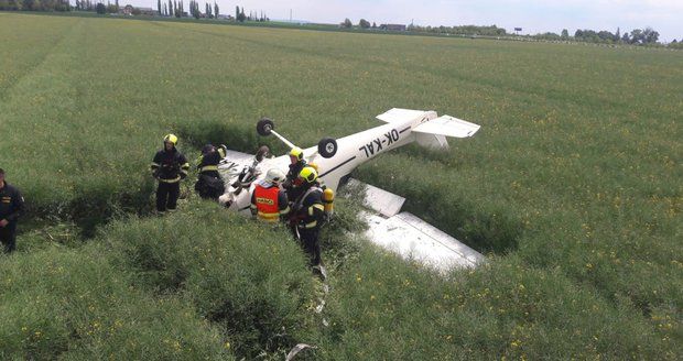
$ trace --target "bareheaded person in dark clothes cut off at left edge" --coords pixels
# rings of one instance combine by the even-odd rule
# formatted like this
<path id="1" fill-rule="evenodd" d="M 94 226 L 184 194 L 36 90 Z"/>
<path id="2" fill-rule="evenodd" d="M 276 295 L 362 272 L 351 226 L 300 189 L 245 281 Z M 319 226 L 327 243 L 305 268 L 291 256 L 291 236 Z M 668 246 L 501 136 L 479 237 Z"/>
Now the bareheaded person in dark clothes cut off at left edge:
<path id="1" fill-rule="evenodd" d="M 21 193 L 4 182 L 4 171 L 0 168 L 0 242 L 4 253 L 12 253 L 17 248 L 17 220 L 23 206 Z"/>

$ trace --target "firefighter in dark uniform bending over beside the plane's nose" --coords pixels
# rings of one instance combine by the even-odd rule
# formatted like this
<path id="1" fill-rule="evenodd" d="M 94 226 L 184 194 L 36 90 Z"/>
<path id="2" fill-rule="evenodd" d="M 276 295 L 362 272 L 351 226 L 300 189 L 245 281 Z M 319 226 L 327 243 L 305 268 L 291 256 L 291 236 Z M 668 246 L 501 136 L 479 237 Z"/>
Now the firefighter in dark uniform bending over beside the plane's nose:
<path id="1" fill-rule="evenodd" d="M 216 147 L 213 144 L 206 144 L 202 147 L 202 155 L 197 162 L 199 175 L 195 183 L 195 190 L 199 197 L 218 200 L 218 197 L 225 193 L 225 183 L 218 174 L 218 163 L 226 156 L 226 152 L 225 145 Z"/>

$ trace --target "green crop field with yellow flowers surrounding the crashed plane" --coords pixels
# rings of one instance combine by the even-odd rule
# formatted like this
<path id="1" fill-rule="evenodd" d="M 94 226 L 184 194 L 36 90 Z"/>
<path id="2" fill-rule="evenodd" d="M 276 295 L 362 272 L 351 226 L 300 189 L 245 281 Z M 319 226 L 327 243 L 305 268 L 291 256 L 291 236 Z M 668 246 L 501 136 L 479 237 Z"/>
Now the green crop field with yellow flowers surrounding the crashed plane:
<path id="1" fill-rule="evenodd" d="M 0 39 L 0 167 L 28 205 L 0 359 L 683 358 L 683 52 L 7 12 Z M 325 294 L 285 230 L 192 179 L 152 212 L 165 133 L 191 161 L 281 153 L 259 118 L 308 146 L 394 107 L 481 130 L 354 176 L 485 265 L 402 261 L 339 199 Z"/>

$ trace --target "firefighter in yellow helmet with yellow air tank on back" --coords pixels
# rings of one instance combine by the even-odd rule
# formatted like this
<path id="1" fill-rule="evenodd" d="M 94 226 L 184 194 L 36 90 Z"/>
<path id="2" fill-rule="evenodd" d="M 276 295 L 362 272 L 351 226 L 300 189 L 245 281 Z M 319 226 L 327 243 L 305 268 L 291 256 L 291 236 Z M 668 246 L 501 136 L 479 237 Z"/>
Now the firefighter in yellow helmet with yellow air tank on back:
<path id="1" fill-rule="evenodd" d="M 314 272 L 318 273 L 324 280 L 326 275 L 322 264 L 318 239 L 325 212 L 323 189 L 318 186 L 317 172 L 313 167 L 305 166 L 299 173 L 299 180 L 301 185 L 297 188 L 301 189 L 301 194 L 292 204 L 290 220 L 296 238 L 311 258 Z"/>

